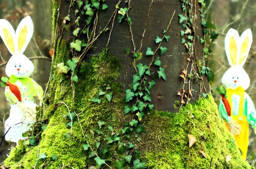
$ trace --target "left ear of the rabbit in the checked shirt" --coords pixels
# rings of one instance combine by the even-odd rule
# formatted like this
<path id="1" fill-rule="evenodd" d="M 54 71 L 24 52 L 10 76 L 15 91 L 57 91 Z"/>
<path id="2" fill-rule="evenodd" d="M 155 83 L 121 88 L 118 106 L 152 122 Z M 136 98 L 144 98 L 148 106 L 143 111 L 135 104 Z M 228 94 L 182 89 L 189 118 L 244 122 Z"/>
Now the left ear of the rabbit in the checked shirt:
<path id="1" fill-rule="evenodd" d="M 7 20 L 0 20 L 0 36 L 9 52 L 14 55 L 17 52 L 15 31 Z"/>

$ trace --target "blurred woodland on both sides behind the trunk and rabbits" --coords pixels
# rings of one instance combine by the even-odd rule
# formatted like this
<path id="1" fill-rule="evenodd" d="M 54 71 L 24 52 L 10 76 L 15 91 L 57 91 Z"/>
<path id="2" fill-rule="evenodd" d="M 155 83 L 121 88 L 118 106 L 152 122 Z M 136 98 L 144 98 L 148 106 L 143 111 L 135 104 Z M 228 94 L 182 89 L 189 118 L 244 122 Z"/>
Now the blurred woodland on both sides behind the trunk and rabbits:
<path id="1" fill-rule="evenodd" d="M 235 28 L 239 34 L 251 28 L 253 32 L 253 44 L 244 65 L 244 69 L 250 76 L 250 88 L 247 93 L 256 103 L 256 1 L 255 0 L 205 0 L 207 8 L 204 10 L 206 21 L 215 25 L 219 34 L 213 51 L 210 56 L 210 68 L 215 74 L 214 82 L 211 86 L 212 94 L 218 103 L 220 98 L 216 92 L 216 87 L 221 85 L 221 77 L 230 67 L 225 50 L 224 38 L 229 28 Z M 52 1 L 51 0 L 0 0 L 0 18 L 9 20 L 17 27 L 23 17 L 32 16 L 34 22 L 34 35 L 25 51 L 27 57 L 38 56 L 40 59 L 33 59 L 35 71 L 32 78 L 45 89 L 45 84 L 49 80 L 51 66 L 51 56 L 49 51 L 52 49 Z M 172 15 L 172 14 L 170 14 Z M 5 62 L 11 54 L 0 40 L 0 76 L 5 74 Z M 0 88 L 0 140 L 3 138 L 3 123 L 8 118 L 9 103 L 4 96 L 4 88 Z M 11 144 L 4 142 L 0 146 L 0 163 L 6 158 Z M 255 161 L 256 135 L 250 131 L 250 140 L 247 157 L 250 162 Z"/>

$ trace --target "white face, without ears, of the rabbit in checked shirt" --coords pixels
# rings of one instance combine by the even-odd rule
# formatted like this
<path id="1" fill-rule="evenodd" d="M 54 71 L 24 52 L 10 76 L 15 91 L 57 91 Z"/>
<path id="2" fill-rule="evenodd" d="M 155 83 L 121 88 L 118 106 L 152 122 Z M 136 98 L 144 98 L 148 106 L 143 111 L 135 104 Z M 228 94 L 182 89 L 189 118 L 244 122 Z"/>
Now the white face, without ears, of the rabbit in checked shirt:
<path id="1" fill-rule="evenodd" d="M 6 75 L 17 77 L 29 77 L 34 71 L 33 63 L 23 54 L 13 55 L 6 65 Z"/>

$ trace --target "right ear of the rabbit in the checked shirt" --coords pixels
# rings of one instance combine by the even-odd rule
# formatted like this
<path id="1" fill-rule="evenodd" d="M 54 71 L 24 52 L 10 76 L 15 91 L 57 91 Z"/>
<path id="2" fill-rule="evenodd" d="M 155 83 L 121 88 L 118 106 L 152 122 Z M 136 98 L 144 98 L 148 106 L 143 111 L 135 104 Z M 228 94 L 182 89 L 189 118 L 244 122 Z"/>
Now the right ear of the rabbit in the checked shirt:
<path id="1" fill-rule="evenodd" d="M 16 40 L 19 53 L 23 54 L 30 39 L 32 38 L 34 25 L 31 17 L 27 16 L 20 21 L 16 30 Z"/>

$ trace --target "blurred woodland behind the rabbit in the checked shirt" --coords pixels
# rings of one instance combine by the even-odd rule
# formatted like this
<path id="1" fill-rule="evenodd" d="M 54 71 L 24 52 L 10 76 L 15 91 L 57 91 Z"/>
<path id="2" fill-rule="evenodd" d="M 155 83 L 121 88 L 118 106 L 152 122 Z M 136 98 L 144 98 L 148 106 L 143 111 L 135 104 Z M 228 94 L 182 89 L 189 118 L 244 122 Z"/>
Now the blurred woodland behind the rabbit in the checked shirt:
<path id="1" fill-rule="evenodd" d="M 49 51 L 52 49 L 52 0 L 0 0 L 0 19 L 8 20 L 15 30 L 20 21 L 28 15 L 34 23 L 34 34 L 24 55 L 28 58 L 41 58 L 31 59 L 35 66 L 31 78 L 45 90 L 51 68 Z M 0 77 L 6 77 L 5 63 L 11 56 L 0 39 Z M 0 141 L 4 134 L 3 119 L 8 118 L 10 111 L 4 90 L 4 87 L 0 87 Z M 12 144 L 5 141 L 0 146 L 0 163 L 7 157 L 11 146 Z"/>

